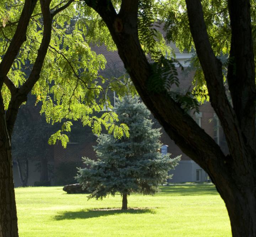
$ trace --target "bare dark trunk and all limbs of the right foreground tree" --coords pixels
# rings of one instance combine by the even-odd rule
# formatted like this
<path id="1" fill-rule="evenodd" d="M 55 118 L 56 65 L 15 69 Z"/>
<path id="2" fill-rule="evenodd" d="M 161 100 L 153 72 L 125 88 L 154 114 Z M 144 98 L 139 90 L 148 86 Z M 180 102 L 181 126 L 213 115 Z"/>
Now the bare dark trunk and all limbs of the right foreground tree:
<path id="1" fill-rule="evenodd" d="M 186 0 L 191 34 L 206 79 L 210 103 L 226 136 L 228 155 L 223 154 L 219 145 L 172 98 L 149 90 L 151 66 L 138 39 L 138 0 L 123 0 L 119 13 L 110 1 L 85 2 L 105 21 L 145 105 L 180 149 L 209 174 L 228 209 L 233 236 L 256 236 L 255 68 L 249 0 L 229 1 L 232 32 L 241 34 L 231 43 L 236 51 L 241 51 L 233 53 L 237 57 L 235 60 L 242 61 L 242 69 L 239 68 L 237 74 L 239 78 L 235 75 L 236 80 L 241 80 L 241 88 L 232 87 L 229 82 L 233 90 L 233 105 L 225 94 L 222 64 L 209 43 L 201 1 Z"/>

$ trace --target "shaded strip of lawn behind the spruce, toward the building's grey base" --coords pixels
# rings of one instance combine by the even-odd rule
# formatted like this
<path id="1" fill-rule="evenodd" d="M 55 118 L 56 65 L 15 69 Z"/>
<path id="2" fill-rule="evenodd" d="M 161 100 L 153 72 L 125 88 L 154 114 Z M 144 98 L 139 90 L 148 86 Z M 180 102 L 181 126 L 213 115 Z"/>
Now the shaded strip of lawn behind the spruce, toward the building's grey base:
<path id="1" fill-rule="evenodd" d="M 158 195 L 219 195 L 214 184 L 174 184 L 160 189 Z"/>

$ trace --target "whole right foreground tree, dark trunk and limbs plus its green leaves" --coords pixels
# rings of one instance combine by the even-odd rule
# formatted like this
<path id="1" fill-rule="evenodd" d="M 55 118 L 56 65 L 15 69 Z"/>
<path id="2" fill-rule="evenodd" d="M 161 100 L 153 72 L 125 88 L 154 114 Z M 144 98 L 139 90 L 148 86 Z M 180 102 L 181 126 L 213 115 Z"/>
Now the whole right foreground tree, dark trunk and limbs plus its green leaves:
<path id="1" fill-rule="evenodd" d="M 233 236 L 256 236 L 255 1 L 122 0 L 118 7 L 110 0 L 84 3 L 108 27 L 145 105 L 181 150 L 209 174 L 226 204 Z M 173 22 L 169 33 L 179 29 L 178 42 L 195 46 L 210 103 L 225 133 L 228 155 L 185 112 L 187 98 L 169 93 L 174 81 L 172 77 L 166 81 L 165 53 L 154 44 L 154 22 L 160 15 Z M 175 24 L 178 17 L 184 24 Z M 148 53 L 159 67 L 151 64 Z M 229 54 L 226 67 L 232 103 L 226 96 L 220 53 Z"/>

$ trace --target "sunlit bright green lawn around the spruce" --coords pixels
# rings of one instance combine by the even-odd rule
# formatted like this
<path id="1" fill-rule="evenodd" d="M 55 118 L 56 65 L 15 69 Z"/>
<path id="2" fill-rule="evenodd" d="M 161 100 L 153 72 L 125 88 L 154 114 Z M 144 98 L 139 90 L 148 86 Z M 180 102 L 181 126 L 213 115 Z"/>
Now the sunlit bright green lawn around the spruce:
<path id="1" fill-rule="evenodd" d="M 171 185 L 151 195 L 102 201 L 62 187 L 16 188 L 20 237 L 231 236 L 228 213 L 212 184 Z"/>

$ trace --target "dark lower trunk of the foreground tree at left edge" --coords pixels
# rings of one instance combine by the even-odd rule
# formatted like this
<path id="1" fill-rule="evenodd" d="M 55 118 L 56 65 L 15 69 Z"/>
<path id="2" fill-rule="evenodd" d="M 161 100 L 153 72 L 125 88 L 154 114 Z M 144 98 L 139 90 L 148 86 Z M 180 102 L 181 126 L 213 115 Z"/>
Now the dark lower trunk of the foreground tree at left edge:
<path id="1" fill-rule="evenodd" d="M 17 212 L 12 175 L 11 137 L 0 98 L 0 237 L 18 236 Z"/>

